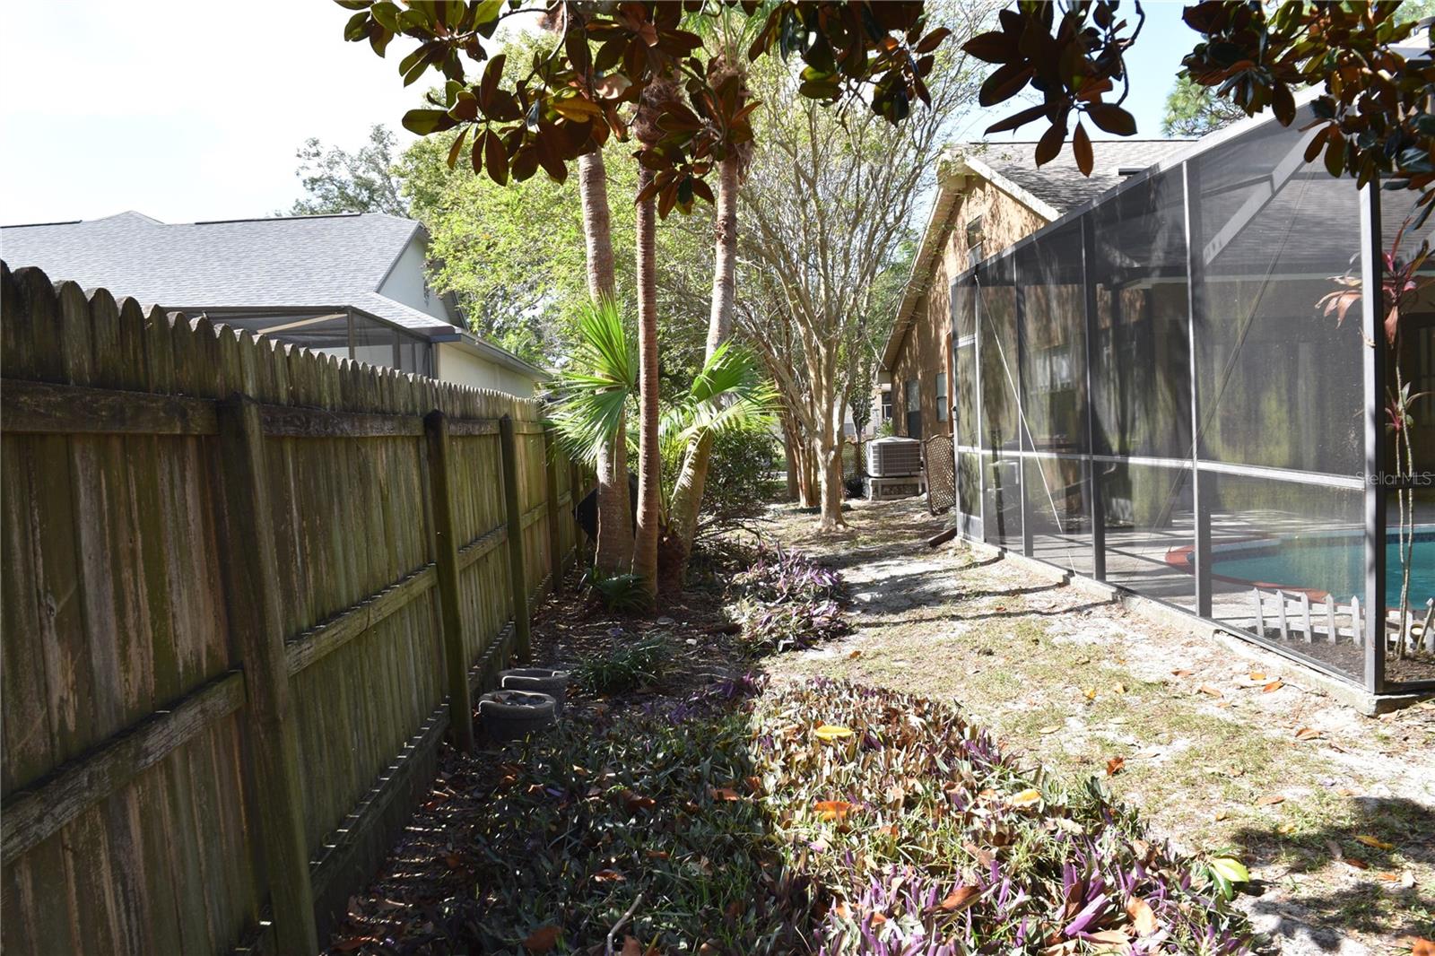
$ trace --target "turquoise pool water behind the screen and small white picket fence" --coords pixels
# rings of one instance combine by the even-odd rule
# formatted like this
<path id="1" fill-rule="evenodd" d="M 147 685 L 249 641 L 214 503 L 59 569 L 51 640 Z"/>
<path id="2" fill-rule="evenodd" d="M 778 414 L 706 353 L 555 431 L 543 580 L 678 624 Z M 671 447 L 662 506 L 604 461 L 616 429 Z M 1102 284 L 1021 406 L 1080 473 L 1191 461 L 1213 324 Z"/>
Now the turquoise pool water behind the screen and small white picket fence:
<path id="1" fill-rule="evenodd" d="M 1339 600 L 1365 594 L 1365 548 L 1358 533 L 1217 545 L 1211 570 L 1241 581 L 1330 591 Z M 1411 606 L 1421 607 L 1429 597 L 1435 597 L 1435 527 L 1419 525 L 1411 561 Z M 1395 607 L 1399 601 L 1399 541 L 1391 531 L 1385 547 L 1385 603 Z"/>

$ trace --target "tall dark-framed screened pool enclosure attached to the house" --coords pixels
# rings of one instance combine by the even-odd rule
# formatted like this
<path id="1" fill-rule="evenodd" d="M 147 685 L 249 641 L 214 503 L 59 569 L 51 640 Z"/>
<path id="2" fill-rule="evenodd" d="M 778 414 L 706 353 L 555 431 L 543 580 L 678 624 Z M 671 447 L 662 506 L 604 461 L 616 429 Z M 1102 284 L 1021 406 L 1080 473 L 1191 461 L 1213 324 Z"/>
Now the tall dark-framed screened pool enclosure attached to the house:
<path id="1" fill-rule="evenodd" d="M 1370 692 L 1431 686 L 1435 274 L 1402 274 L 1429 224 L 1306 164 L 1309 119 L 1208 136 L 957 277 L 956 511 Z"/>

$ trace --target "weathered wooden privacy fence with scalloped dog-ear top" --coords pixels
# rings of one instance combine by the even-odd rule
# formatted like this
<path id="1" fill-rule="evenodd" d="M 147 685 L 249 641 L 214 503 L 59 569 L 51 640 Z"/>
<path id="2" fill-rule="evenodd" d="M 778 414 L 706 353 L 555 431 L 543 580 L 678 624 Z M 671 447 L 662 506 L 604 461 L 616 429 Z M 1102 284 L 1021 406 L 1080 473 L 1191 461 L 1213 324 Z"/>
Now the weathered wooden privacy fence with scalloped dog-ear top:
<path id="1" fill-rule="evenodd" d="M 0 280 L 0 945 L 313 953 L 527 652 L 577 472 L 530 400 Z"/>

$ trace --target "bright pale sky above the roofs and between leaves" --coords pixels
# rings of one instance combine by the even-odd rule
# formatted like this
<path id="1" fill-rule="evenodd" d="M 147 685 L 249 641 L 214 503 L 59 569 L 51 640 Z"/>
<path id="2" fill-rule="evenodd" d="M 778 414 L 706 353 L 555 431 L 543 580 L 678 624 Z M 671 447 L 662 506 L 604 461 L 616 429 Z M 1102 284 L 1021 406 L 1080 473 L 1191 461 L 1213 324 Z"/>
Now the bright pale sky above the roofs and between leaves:
<path id="1" fill-rule="evenodd" d="M 1180 3 L 1147 3 L 1128 109 L 1159 136 L 1165 95 L 1195 34 Z M 136 210 L 168 222 L 271 215 L 300 197 L 309 136 L 403 142 L 397 56 L 343 42 L 329 0 L 46 0 L 9 4 L 0 32 L 0 224 Z M 395 43 L 397 47 L 397 43 Z M 976 132 L 1010 103 L 976 118 Z M 1040 135 L 1027 126 L 1017 135 Z M 17 188 L 17 184 L 23 187 Z"/>

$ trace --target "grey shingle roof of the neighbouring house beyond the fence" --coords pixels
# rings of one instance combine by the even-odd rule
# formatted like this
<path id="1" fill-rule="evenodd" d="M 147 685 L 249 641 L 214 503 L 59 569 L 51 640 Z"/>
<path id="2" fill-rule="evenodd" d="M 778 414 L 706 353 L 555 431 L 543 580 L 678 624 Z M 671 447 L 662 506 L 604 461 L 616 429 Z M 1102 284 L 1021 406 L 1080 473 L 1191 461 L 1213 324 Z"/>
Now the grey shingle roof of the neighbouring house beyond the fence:
<path id="1" fill-rule="evenodd" d="M 416 228 L 380 212 L 177 224 L 121 212 L 4 227 L 0 256 L 169 309 L 353 306 L 416 332 L 452 329 L 377 294 Z"/>

